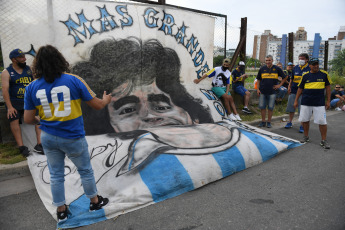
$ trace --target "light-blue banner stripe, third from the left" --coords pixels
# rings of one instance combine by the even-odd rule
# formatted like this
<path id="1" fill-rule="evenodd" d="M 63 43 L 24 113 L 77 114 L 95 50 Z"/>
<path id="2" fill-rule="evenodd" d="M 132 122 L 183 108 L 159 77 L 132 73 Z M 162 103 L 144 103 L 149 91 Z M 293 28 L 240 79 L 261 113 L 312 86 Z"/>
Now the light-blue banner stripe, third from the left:
<path id="1" fill-rule="evenodd" d="M 236 146 L 212 155 L 219 164 L 223 177 L 242 171 L 246 168 L 243 156 Z"/>

